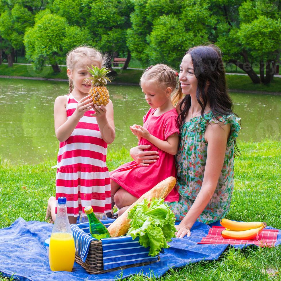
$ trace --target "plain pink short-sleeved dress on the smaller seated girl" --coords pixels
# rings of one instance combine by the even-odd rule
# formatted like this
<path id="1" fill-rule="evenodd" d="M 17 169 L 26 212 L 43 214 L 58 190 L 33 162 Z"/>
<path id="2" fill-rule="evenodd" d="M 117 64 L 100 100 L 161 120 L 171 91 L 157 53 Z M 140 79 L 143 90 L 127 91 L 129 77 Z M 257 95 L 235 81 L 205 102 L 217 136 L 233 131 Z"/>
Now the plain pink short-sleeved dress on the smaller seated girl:
<path id="1" fill-rule="evenodd" d="M 153 136 L 167 141 L 167 138 L 174 133 L 179 134 L 177 124 L 177 110 L 174 108 L 160 116 L 154 116 L 156 109 L 150 109 L 143 118 L 143 127 Z M 141 138 L 138 145 L 151 145 L 148 150 L 158 151 L 159 159 L 149 166 L 140 166 L 135 161 L 125 163 L 110 173 L 111 179 L 133 196 L 139 198 L 145 192 L 151 190 L 156 184 L 167 177 L 176 177 L 175 156 L 159 149 L 145 138 Z M 179 194 L 173 190 L 166 197 L 165 201 L 173 202 L 179 200 Z"/>

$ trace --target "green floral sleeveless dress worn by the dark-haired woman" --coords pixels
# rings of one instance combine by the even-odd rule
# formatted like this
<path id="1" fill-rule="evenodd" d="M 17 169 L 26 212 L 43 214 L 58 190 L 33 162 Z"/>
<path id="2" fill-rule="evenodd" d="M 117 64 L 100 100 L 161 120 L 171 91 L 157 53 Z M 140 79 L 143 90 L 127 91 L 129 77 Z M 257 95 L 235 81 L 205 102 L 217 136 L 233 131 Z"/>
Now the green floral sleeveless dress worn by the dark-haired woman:
<path id="1" fill-rule="evenodd" d="M 202 186 L 208 146 L 204 133 L 208 121 L 210 123 L 218 122 L 211 111 L 204 114 L 204 118 L 198 116 L 190 119 L 184 123 L 180 132 L 181 143 L 176 155 L 177 183 L 175 186 L 179 192 L 179 201 L 166 202 L 173 210 L 177 221 L 184 218 Z M 198 218 L 198 221 L 207 224 L 223 218 L 229 211 L 233 192 L 234 140 L 240 130 L 238 123 L 240 118 L 236 118 L 234 114 L 219 116 L 218 119 L 224 124 L 231 125 L 231 133 L 227 141 L 225 160 L 218 185 L 212 199 Z"/>

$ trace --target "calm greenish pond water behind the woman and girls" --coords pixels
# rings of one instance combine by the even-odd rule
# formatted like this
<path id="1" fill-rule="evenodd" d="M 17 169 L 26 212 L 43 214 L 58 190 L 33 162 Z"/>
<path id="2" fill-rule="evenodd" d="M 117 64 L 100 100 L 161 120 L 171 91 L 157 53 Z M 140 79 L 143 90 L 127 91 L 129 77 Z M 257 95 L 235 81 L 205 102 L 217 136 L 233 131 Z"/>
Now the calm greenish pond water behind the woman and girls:
<path id="1" fill-rule="evenodd" d="M 142 124 L 149 109 L 138 86 L 109 85 L 114 105 L 116 139 L 108 149 L 137 145 L 129 126 Z M 54 133 L 53 106 L 68 83 L 0 79 L 0 157 L 12 163 L 35 164 L 56 159 L 58 140 Z M 234 112 L 241 117 L 238 140 L 280 140 L 280 96 L 231 93 Z"/>

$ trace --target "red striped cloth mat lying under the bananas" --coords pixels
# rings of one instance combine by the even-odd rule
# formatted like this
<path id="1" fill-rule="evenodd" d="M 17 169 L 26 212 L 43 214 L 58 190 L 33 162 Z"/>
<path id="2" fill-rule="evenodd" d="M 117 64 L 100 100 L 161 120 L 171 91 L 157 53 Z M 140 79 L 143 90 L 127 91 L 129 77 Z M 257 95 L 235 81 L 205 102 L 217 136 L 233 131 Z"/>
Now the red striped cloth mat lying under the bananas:
<path id="1" fill-rule="evenodd" d="M 225 239 L 221 236 L 221 231 L 225 230 L 221 226 L 213 226 L 209 229 L 209 233 L 206 237 L 203 237 L 198 244 L 255 244 L 260 247 L 274 247 L 277 240 L 278 229 L 263 229 L 255 240 L 236 240 Z"/>

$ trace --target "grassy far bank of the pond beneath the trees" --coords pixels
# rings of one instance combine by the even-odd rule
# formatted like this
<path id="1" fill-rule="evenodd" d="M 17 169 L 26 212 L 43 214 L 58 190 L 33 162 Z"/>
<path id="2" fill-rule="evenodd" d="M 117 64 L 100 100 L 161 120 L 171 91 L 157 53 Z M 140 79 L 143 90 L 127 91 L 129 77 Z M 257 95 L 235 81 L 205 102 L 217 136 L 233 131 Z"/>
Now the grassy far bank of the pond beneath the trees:
<path id="1" fill-rule="evenodd" d="M 32 65 L 16 65 L 8 67 L 0 65 L 0 78 L 17 78 L 32 80 L 68 81 L 66 67 L 61 68 L 60 73 L 54 73 L 52 67 L 46 66 L 40 71 L 34 71 Z M 140 69 L 115 69 L 117 75 L 113 77 L 112 84 L 139 85 L 141 74 Z M 274 81 L 268 85 L 254 84 L 245 75 L 226 75 L 227 84 L 230 91 L 251 92 L 251 93 L 270 93 L 281 95 L 281 78 L 274 77 Z"/>

